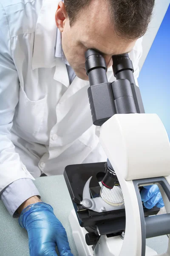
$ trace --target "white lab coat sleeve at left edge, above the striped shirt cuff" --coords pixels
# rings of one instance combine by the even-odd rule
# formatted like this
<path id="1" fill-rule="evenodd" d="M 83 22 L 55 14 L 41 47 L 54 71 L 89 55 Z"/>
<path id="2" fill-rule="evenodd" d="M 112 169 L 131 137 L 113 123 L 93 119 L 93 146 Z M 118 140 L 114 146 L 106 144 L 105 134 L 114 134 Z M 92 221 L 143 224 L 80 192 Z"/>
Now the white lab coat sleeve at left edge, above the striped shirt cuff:
<path id="1" fill-rule="evenodd" d="M 8 20 L 0 3 L 0 192 L 16 180 L 27 178 L 30 180 L 28 184 L 34 180 L 11 141 L 10 131 L 18 100 L 19 78 L 12 60 Z M 26 187 L 28 194 L 33 186 L 32 182 Z M 16 197 L 26 193 L 26 189 L 18 188 Z"/>

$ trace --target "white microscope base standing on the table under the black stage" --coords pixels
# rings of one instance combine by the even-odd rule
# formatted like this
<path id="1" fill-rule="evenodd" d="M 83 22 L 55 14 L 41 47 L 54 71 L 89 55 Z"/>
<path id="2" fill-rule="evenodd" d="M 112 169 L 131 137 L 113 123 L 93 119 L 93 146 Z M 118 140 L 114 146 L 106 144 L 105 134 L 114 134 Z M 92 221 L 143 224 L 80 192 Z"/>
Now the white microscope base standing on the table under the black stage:
<path id="1" fill-rule="evenodd" d="M 85 230 L 84 227 L 80 227 L 74 209 L 71 211 L 69 215 L 69 222 L 71 224 L 72 234 L 79 256 L 119 256 L 123 244 L 123 240 L 120 238 L 120 236 L 101 236 L 99 242 L 96 244 L 96 247 L 93 250 L 92 246 L 88 246 L 86 244 L 85 234 L 88 232 Z M 158 255 L 156 251 L 146 246 L 145 256 L 156 255 Z"/>

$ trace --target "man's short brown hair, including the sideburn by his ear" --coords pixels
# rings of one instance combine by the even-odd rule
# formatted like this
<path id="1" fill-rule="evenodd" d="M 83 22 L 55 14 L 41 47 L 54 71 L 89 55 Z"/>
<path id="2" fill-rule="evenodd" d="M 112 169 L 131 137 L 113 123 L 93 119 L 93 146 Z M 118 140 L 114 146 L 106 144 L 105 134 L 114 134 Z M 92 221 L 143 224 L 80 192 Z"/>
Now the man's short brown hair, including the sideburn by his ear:
<path id="1" fill-rule="evenodd" d="M 72 26 L 79 11 L 93 0 L 64 0 Z M 155 0 L 106 0 L 116 34 L 129 40 L 140 38 L 147 31 Z"/>

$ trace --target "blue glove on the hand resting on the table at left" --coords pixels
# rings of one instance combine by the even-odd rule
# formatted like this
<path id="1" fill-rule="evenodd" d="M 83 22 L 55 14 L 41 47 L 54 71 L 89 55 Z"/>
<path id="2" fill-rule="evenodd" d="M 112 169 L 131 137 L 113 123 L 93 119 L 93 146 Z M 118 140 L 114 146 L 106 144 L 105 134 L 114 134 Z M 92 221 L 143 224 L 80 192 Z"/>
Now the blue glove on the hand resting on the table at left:
<path id="1" fill-rule="evenodd" d="M 31 204 L 21 212 L 19 223 L 28 232 L 30 256 L 73 256 L 68 238 L 53 208 L 43 202 Z"/>

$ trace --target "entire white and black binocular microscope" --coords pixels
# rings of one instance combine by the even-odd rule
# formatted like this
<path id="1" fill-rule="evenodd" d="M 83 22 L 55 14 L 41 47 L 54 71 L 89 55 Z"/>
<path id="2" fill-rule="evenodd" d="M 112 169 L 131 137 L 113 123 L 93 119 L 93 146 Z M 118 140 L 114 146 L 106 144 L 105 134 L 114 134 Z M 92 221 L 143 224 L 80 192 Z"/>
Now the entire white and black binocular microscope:
<path id="1" fill-rule="evenodd" d="M 155 256 L 146 238 L 170 233 L 170 143 L 161 119 L 144 113 L 128 54 L 114 55 L 116 81 L 100 52 L 85 53 L 93 124 L 105 163 L 71 165 L 64 177 L 74 210 L 69 221 L 79 256 Z M 166 214 L 146 209 L 140 191 L 157 184 Z M 170 256 L 170 240 L 167 253 Z M 162 255 L 162 256 L 163 256 Z"/>

